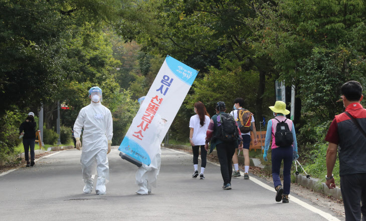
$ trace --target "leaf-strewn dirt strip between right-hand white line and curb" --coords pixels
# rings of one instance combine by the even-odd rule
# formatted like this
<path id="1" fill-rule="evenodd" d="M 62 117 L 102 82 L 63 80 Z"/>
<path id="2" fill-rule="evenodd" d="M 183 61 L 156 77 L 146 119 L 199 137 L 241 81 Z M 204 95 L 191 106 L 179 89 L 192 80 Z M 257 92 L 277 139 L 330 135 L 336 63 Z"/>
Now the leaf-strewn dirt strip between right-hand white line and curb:
<path id="1" fill-rule="evenodd" d="M 188 153 L 192 153 L 192 150 L 184 150 L 184 149 L 175 149 L 178 151 L 184 151 Z M 209 161 L 213 161 L 216 163 L 219 163 L 219 159 L 215 155 L 208 155 L 207 159 Z M 239 164 L 240 170 L 244 171 L 244 165 Z M 266 179 L 268 182 L 273 183 L 271 174 L 268 174 L 263 168 L 257 167 L 257 166 L 251 166 L 249 169 L 250 173 L 253 173 L 254 175 Z M 282 177 L 281 177 L 282 179 Z M 306 187 L 303 187 L 297 183 L 291 183 L 291 192 L 296 193 L 297 195 L 306 198 L 310 200 L 311 202 L 321 206 L 328 208 L 332 211 L 334 211 L 336 214 L 344 217 L 344 207 L 343 207 L 343 201 L 339 199 L 335 199 L 331 196 L 324 195 L 322 193 L 315 192 L 313 189 L 308 189 Z M 289 197 L 291 200 L 291 196 Z"/>

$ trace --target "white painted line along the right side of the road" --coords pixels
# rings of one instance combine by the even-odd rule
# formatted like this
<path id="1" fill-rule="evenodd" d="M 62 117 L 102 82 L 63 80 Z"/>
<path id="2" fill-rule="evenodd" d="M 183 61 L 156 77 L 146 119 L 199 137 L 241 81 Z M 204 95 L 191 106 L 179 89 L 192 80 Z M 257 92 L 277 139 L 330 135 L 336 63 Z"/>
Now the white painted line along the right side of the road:
<path id="1" fill-rule="evenodd" d="M 189 154 L 189 153 L 186 153 L 186 152 L 181 152 L 181 151 L 173 150 L 173 149 L 169 149 L 169 150 L 172 150 L 172 151 L 175 151 L 175 152 L 179 152 L 179 153 L 184 153 L 184 154 L 186 154 L 186 155 L 190 155 L 190 156 L 192 156 L 192 154 Z M 219 163 L 212 162 L 212 161 L 210 161 L 210 160 L 207 160 L 207 161 L 208 161 L 208 162 L 210 162 L 210 163 L 212 163 L 212 164 L 214 164 L 214 165 L 220 166 L 220 164 L 219 164 Z M 240 174 L 241 174 L 241 175 L 244 175 L 244 173 L 243 173 L 242 171 L 240 171 Z M 267 185 L 266 183 L 264 183 L 264 182 L 260 181 L 259 179 L 254 178 L 253 176 L 251 176 L 249 180 L 251 180 L 251 181 L 253 181 L 253 182 L 257 183 L 258 185 L 262 186 L 263 188 L 266 188 L 266 189 L 268 189 L 268 190 L 271 190 L 272 192 L 276 192 L 276 190 L 274 189 L 274 187 Z M 340 221 L 338 218 L 336 218 L 336 217 L 332 216 L 331 214 L 329 214 L 329 213 L 327 213 L 327 212 L 324 212 L 324 211 L 322 211 L 322 210 L 320 210 L 320 209 L 318 209 L 318 208 L 315 208 L 314 206 L 312 206 L 312 205 L 310 205 L 310 204 L 308 204 L 308 203 L 306 203 L 306 202 L 304 202 L 304 201 L 301 201 L 300 199 L 296 198 L 296 197 L 295 197 L 295 196 L 293 196 L 293 195 L 290 195 L 290 196 L 291 196 L 291 201 L 292 201 L 292 202 L 295 202 L 295 203 L 297 203 L 297 204 L 299 204 L 299 205 L 303 206 L 304 208 L 307 208 L 307 209 L 309 209 L 310 211 L 315 212 L 315 213 L 317 213 L 317 214 L 319 214 L 319 215 L 323 216 L 324 218 L 326 218 L 326 220 L 331 220 L 331 221 Z"/>

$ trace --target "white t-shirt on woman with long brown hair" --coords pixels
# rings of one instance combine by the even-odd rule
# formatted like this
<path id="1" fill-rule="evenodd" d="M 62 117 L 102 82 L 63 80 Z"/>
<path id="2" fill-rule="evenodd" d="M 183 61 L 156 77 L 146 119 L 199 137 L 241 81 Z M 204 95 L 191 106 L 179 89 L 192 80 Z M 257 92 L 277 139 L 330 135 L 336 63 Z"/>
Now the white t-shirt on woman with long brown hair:
<path id="1" fill-rule="evenodd" d="M 205 145 L 206 132 L 209 128 L 209 124 L 209 116 L 205 116 L 205 124 L 203 126 L 200 124 L 200 116 L 198 116 L 198 114 L 191 117 L 190 128 L 193 128 L 192 141 L 196 146 Z"/>

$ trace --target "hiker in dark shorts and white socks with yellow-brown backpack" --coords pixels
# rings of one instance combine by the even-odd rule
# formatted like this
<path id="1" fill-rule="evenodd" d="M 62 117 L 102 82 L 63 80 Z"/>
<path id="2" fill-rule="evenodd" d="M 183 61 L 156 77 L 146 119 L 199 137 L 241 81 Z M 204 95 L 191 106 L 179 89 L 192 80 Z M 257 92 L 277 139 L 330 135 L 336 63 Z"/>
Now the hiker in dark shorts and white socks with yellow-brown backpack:
<path id="1" fill-rule="evenodd" d="M 253 144 L 256 145 L 258 143 L 257 140 L 257 130 L 255 128 L 254 116 L 253 114 L 243 108 L 244 107 L 244 99 L 239 97 L 234 100 L 234 110 L 230 113 L 233 115 L 234 119 L 237 121 L 240 132 L 243 137 L 243 156 L 244 156 L 244 179 L 249 179 L 249 147 L 250 147 L 250 131 L 253 131 L 254 139 Z M 234 163 L 234 171 L 231 175 L 232 177 L 240 176 L 239 171 L 239 163 L 238 163 L 238 149 L 235 148 L 235 153 L 233 155 L 233 163 Z"/>

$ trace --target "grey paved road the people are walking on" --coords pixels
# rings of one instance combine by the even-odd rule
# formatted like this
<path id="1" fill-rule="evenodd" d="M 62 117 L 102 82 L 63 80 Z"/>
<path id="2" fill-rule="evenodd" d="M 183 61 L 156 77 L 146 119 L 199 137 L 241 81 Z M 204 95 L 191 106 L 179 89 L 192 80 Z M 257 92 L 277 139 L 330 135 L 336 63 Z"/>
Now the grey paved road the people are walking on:
<path id="1" fill-rule="evenodd" d="M 138 195 L 137 167 L 118 153 L 108 154 L 111 181 L 102 196 L 82 193 L 76 149 L 0 176 L 0 220 L 344 220 L 297 195 L 278 203 L 272 186 L 267 189 L 266 181 L 254 176 L 233 178 L 233 189 L 223 190 L 216 164 L 208 163 L 206 179 L 192 179 L 192 156 L 165 148 L 158 187 Z"/>

